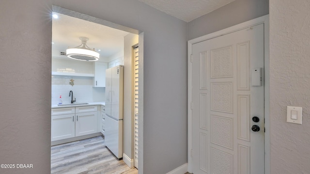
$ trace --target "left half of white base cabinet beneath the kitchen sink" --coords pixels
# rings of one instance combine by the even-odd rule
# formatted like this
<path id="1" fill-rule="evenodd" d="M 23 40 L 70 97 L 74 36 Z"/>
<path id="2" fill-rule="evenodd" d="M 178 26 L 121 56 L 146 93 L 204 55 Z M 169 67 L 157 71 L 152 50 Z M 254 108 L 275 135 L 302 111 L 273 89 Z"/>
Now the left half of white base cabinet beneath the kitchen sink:
<path id="1" fill-rule="evenodd" d="M 75 137 L 75 108 L 52 109 L 51 141 Z"/>

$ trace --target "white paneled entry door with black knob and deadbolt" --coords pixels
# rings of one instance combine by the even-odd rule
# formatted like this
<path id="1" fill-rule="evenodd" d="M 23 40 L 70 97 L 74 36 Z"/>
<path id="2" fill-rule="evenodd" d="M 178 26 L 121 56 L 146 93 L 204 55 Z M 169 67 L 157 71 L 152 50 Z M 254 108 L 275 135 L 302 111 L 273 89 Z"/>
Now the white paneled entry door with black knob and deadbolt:
<path id="1" fill-rule="evenodd" d="M 260 24 L 192 45 L 194 174 L 264 174 L 263 39 Z"/>

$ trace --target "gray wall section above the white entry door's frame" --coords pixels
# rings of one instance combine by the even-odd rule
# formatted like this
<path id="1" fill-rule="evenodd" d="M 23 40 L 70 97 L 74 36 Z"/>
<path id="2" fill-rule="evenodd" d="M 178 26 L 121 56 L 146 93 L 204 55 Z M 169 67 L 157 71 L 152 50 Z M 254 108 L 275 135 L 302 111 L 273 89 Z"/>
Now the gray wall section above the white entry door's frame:
<path id="1" fill-rule="evenodd" d="M 269 0 L 235 0 L 188 22 L 188 40 L 267 15 Z"/>

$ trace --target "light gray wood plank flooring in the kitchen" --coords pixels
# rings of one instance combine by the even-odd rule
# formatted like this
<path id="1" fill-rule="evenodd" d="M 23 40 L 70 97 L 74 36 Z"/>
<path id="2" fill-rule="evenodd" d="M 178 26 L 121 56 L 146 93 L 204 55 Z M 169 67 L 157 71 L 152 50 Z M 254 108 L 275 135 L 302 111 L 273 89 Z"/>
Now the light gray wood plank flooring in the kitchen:
<path id="1" fill-rule="evenodd" d="M 138 174 L 115 158 L 102 136 L 51 147 L 51 174 Z"/>

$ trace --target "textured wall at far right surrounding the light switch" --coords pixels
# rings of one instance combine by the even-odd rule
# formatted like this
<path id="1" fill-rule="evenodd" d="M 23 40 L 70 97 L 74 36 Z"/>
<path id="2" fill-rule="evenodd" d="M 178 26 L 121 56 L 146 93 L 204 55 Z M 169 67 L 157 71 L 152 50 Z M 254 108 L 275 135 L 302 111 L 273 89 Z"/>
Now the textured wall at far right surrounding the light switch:
<path id="1" fill-rule="evenodd" d="M 271 174 L 310 174 L 310 1 L 270 0 Z M 303 107 L 303 124 L 286 123 Z"/>

